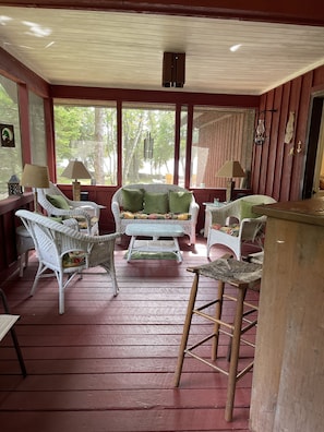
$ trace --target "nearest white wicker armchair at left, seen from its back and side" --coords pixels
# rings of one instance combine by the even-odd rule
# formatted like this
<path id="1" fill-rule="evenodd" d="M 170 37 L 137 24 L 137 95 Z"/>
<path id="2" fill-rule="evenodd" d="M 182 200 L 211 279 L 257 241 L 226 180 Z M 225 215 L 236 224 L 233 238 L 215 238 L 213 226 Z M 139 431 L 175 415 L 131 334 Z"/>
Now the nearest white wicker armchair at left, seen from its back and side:
<path id="1" fill-rule="evenodd" d="M 59 284 L 59 313 L 64 313 L 64 289 L 73 276 L 82 276 L 86 268 L 101 266 L 110 275 L 113 295 L 118 293 L 115 271 L 115 242 L 118 232 L 106 236 L 88 236 L 77 229 L 60 224 L 29 211 L 20 209 L 15 213 L 31 233 L 37 256 L 38 269 L 31 290 L 34 295 L 41 277 L 52 276 L 53 272 Z M 70 219 L 73 220 L 73 219 Z M 69 225 L 69 224 L 68 224 Z M 64 275 L 68 275 L 64 281 Z"/>

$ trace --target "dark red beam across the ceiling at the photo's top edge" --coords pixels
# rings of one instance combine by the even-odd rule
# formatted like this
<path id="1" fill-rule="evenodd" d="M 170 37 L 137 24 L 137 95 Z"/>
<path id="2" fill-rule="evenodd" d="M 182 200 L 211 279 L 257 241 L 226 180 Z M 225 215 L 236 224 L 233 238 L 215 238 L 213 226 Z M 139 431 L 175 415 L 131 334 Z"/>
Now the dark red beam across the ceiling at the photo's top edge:
<path id="1" fill-rule="evenodd" d="M 1 5 L 141 12 L 324 26 L 323 0 L 1 0 Z"/>

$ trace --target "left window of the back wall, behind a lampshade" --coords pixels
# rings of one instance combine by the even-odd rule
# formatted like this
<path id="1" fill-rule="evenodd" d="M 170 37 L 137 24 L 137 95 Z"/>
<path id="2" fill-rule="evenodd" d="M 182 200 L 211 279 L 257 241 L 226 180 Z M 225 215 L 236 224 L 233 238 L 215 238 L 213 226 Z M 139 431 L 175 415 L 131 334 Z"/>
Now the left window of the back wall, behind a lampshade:
<path id="1" fill-rule="evenodd" d="M 69 160 L 82 160 L 92 173 L 84 184 L 117 184 L 117 110 L 110 106 L 55 106 L 56 161 L 59 183 Z"/>

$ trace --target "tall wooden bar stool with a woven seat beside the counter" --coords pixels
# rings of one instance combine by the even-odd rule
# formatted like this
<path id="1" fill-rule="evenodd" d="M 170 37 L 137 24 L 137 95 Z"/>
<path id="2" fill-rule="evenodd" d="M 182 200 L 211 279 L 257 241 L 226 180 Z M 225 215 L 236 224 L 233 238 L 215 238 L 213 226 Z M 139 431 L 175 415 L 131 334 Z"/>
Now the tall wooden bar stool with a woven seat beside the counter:
<path id="1" fill-rule="evenodd" d="M 178 364 L 175 373 L 175 386 L 178 387 L 180 383 L 181 372 L 184 356 L 190 356 L 205 364 L 211 365 L 213 369 L 221 372 L 228 376 L 227 384 L 227 399 L 225 409 L 225 419 L 232 420 L 235 393 L 237 381 L 249 372 L 253 367 L 253 360 L 250 364 L 244 367 L 241 371 L 238 370 L 239 352 L 241 343 L 251 345 L 254 344 L 243 339 L 241 336 L 250 328 L 256 325 L 255 312 L 257 305 L 248 303 L 245 301 L 245 293 L 248 289 L 259 289 L 262 274 L 262 266 L 255 263 L 247 263 L 235 260 L 232 257 L 221 257 L 209 264 L 199 267 L 190 267 L 189 272 L 195 274 L 192 284 L 189 304 L 187 309 L 187 316 L 183 326 L 182 339 L 179 350 Z M 215 300 L 209 301 L 199 308 L 195 308 L 195 300 L 199 288 L 200 276 L 209 277 L 218 280 L 218 295 Z M 225 284 L 237 288 L 237 296 L 229 296 L 225 293 Z M 221 317 L 223 302 L 225 299 L 236 302 L 236 312 L 233 323 L 225 322 Z M 212 315 L 205 310 L 212 305 L 216 305 L 216 311 Z M 214 308 L 212 308 L 214 309 Z M 249 315 L 253 314 L 249 317 Z M 192 346 L 188 347 L 188 338 L 191 327 L 193 315 L 199 315 L 214 323 L 214 331 L 203 339 L 199 340 Z M 229 368 L 225 369 L 216 363 L 219 335 L 226 334 L 231 338 L 231 344 L 228 350 Z M 202 344 L 213 339 L 211 360 L 199 356 L 194 350 Z"/>

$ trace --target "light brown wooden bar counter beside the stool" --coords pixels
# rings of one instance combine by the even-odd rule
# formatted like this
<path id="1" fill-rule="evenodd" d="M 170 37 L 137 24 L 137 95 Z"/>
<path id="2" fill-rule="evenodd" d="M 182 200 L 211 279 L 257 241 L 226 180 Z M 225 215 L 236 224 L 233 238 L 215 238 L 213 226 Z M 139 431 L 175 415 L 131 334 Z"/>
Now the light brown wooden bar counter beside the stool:
<path id="1" fill-rule="evenodd" d="M 250 430 L 324 431 L 324 199 L 267 216 Z"/>

